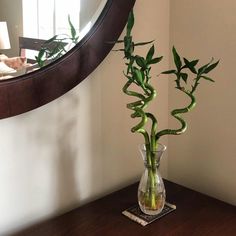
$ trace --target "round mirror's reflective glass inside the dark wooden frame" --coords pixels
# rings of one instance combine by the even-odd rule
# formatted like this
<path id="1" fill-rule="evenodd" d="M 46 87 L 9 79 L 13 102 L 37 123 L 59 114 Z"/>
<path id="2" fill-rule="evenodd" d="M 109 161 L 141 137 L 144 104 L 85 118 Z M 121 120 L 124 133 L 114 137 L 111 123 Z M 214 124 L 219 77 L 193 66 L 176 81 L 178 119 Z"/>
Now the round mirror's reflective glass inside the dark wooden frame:
<path id="1" fill-rule="evenodd" d="M 38 70 L 68 52 L 89 32 L 106 2 L 0 0 L 0 79 Z"/>

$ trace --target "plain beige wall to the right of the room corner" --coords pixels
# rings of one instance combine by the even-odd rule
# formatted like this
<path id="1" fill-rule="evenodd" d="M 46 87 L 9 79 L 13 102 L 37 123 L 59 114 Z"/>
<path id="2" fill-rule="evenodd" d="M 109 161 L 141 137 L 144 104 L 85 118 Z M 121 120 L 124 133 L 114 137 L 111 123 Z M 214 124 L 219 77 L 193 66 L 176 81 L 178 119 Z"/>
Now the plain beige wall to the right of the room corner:
<path id="1" fill-rule="evenodd" d="M 220 59 L 212 73 L 216 83 L 203 81 L 197 107 L 186 115 L 189 129 L 169 138 L 169 178 L 216 198 L 236 204 L 234 0 L 171 0 L 171 44 L 186 57 L 206 63 Z M 187 103 L 172 89 L 170 107 Z M 170 118 L 170 126 L 176 126 Z"/>

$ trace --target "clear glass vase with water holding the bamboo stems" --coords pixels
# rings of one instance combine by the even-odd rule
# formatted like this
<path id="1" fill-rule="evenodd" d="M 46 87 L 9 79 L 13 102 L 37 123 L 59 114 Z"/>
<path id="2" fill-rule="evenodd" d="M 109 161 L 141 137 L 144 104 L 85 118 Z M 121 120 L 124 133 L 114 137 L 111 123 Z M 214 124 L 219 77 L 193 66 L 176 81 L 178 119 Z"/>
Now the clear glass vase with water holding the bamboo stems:
<path id="1" fill-rule="evenodd" d="M 147 215 L 159 214 L 166 200 L 165 186 L 159 171 L 162 154 L 166 146 L 158 144 L 157 151 L 146 151 L 140 146 L 145 170 L 138 187 L 138 203 L 141 211 Z"/>

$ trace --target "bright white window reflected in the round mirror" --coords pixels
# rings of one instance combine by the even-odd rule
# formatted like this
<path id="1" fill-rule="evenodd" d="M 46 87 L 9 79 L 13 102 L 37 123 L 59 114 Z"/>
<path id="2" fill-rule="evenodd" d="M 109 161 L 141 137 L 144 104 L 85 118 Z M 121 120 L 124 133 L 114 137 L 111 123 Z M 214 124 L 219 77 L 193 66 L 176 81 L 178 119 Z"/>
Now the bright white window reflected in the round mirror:
<path id="1" fill-rule="evenodd" d="M 22 8 L 23 37 L 47 40 L 55 34 L 70 35 L 68 16 L 80 30 L 79 0 L 22 0 Z M 34 58 L 35 53 L 27 50 L 26 57 Z"/>

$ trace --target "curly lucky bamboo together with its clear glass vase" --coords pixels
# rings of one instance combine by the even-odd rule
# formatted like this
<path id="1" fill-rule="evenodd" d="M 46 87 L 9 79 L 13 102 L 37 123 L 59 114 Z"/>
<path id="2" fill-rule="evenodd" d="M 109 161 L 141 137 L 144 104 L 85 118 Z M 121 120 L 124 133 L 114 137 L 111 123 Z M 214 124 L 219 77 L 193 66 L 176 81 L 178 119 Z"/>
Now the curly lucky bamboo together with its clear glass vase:
<path id="1" fill-rule="evenodd" d="M 159 130 L 158 119 L 154 114 L 147 111 L 147 107 L 157 96 L 157 90 L 152 85 L 152 82 L 154 79 L 160 78 L 160 75 L 157 78 L 153 78 L 151 69 L 152 66 L 160 63 L 163 57 L 160 55 L 154 56 L 154 44 L 144 56 L 135 53 L 137 47 L 152 44 L 153 41 L 134 42 L 132 37 L 134 23 L 134 14 L 131 12 L 127 23 L 126 35 L 123 40 L 117 41 L 119 44 L 122 43 L 123 47 L 117 51 L 124 53 L 127 67 L 124 72 L 127 81 L 123 87 L 123 92 L 137 99 L 127 104 L 127 108 L 133 112 L 131 117 L 140 120 L 131 129 L 131 132 L 140 133 L 144 137 L 144 147 L 141 153 L 146 169 L 139 185 L 138 202 L 140 209 L 144 213 L 154 215 L 160 213 L 165 204 L 165 188 L 158 170 L 165 147 L 159 143 L 159 140 L 164 135 L 180 135 L 186 131 L 187 123 L 182 115 L 188 113 L 196 106 L 195 92 L 199 89 L 200 83 L 205 81 L 214 82 L 208 76 L 208 73 L 217 67 L 219 61 L 214 62 L 212 59 L 209 63 L 198 66 L 200 64 L 199 60 L 181 57 L 176 48 L 172 48 L 175 68 L 164 71 L 160 75 L 173 76 L 175 78 L 175 88 L 186 95 L 190 103 L 183 108 L 171 111 L 171 115 L 180 123 L 179 128 Z"/>

